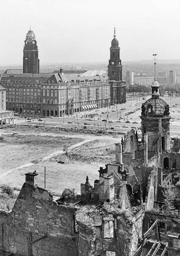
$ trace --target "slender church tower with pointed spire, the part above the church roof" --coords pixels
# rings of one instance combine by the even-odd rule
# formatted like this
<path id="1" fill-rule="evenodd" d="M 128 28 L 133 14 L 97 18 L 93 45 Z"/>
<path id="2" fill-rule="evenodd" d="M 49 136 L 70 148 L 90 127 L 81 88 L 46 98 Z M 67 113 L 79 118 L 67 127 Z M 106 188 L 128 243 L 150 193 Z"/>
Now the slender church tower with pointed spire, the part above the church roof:
<path id="1" fill-rule="evenodd" d="M 114 28 L 114 38 L 111 41 L 110 60 L 108 65 L 109 80 L 122 81 L 122 65 L 120 60 L 120 47 L 116 39 L 116 30 Z"/>

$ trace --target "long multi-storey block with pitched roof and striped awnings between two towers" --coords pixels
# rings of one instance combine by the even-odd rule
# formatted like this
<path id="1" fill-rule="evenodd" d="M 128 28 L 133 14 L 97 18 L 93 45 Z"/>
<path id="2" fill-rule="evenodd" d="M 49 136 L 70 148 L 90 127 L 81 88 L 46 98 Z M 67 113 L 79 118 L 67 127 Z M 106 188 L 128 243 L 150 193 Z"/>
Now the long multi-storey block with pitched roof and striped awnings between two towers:
<path id="1" fill-rule="evenodd" d="M 72 78 L 72 77 L 71 77 Z M 65 74 L 22 74 L 2 76 L 6 108 L 19 114 L 69 115 L 84 109 L 104 108 L 111 103 L 111 85 L 98 76 L 75 77 Z"/>

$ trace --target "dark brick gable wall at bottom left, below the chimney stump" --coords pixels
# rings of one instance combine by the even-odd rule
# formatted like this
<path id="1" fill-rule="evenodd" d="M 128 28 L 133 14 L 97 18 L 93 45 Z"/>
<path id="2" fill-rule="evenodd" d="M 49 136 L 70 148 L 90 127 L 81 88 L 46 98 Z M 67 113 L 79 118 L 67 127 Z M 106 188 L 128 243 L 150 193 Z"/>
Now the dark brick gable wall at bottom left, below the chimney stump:
<path id="1" fill-rule="evenodd" d="M 11 222 L 6 224 L 6 250 L 24 256 L 31 252 L 34 256 L 78 255 L 75 211 L 56 205 L 46 190 L 24 183 L 12 209 Z"/>

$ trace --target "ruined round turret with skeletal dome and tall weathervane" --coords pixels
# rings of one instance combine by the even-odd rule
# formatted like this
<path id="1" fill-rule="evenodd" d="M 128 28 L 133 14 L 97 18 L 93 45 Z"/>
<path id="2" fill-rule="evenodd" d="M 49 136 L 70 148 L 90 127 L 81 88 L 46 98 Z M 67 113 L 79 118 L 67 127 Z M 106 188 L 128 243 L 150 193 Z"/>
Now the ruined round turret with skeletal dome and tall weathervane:
<path id="1" fill-rule="evenodd" d="M 156 56 L 156 54 L 154 54 Z M 155 69 L 156 69 L 156 63 Z M 152 94 L 141 107 L 141 130 L 142 141 L 148 138 L 148 158 L 154 156 L 157 151 L 168 151 L 169 144 L 169 105 L 159 98 L 159 83 L 154 76 L 154 81 L 151 85 Z"/>

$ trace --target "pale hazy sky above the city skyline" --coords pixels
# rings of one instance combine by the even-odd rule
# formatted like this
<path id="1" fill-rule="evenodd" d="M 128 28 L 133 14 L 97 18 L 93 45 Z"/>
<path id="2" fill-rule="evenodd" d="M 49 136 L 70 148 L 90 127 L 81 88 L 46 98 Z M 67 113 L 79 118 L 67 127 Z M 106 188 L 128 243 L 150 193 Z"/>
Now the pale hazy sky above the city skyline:
<path id="1" fill-rule="evenodd" d="M 179 0 L 1 1 L 0 66 L 20 64 L 31 25 L 40 64 L 109 59 L 116 25 L 121 59 L 180 59 Z"/>

